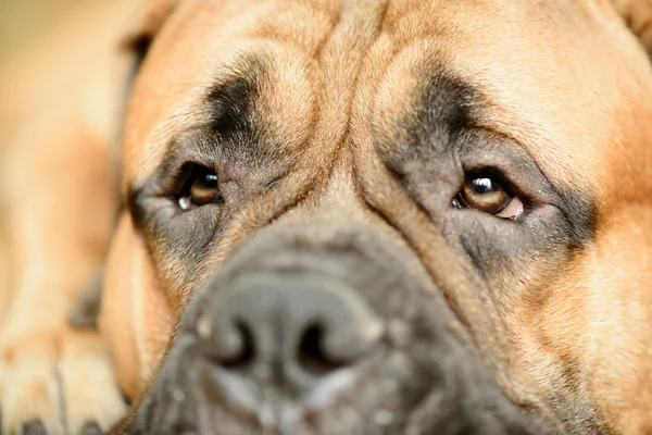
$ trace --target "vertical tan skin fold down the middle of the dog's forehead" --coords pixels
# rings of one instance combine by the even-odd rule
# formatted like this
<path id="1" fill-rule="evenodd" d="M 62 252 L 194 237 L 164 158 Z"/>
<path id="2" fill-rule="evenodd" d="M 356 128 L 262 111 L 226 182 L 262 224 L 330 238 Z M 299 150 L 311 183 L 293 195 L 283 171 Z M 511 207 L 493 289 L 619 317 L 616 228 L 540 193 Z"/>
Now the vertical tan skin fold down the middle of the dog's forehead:
<path id="1" fill-rule="evenodd" d="M 327 178 L 319 186 L 324 188 L 319 198 L 322 212 L 330 208 L 344 214 L 361 210 L 356 207 L 360 202 L 352 171 L 352 115 L 362 88 L 360 74 L 379 35 L 388 3 L 389 0 L 341 0 L 337 23 L 315 62 L 319 115 L 304 163 L 327 166 L 318 171 Z"/>

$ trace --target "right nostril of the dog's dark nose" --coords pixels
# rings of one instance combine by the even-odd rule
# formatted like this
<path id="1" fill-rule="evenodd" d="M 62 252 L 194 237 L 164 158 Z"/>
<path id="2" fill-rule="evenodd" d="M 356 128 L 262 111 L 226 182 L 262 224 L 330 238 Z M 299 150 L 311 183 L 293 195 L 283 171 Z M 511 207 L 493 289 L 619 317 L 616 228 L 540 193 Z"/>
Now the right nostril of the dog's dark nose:
<path id="1" fill-rule="evenodd" d="M 299 364 L 314 376 L 325 375 L 346 365 L 346 361 L 327 353 L 325 336 L 324 326 L 315 323 L 306 327 L 299 341 Z"/>

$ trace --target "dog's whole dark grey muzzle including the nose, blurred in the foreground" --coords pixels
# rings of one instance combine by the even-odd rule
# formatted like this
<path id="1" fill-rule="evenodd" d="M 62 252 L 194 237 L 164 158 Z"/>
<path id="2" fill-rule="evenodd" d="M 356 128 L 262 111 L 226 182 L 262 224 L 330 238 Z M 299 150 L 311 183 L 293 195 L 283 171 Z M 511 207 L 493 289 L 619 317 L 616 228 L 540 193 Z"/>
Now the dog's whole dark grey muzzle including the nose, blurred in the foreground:
<path id="1" fill-rule="evenodd" d="M 252 236 L 186 309 L 128 433 L 540 433 L 396 245 L 350 225 Z"/>

